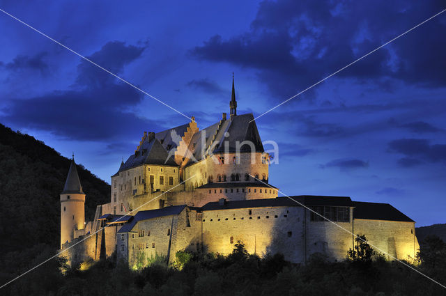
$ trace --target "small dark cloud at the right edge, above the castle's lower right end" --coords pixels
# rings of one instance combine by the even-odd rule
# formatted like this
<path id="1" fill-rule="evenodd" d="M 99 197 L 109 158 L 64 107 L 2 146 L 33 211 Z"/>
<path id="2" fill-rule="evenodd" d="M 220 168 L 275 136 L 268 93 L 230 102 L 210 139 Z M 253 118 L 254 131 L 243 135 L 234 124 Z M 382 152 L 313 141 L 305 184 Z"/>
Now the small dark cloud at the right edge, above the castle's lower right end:
<path id="1" fill-rule="evenodd" d="M 446 145 L 429 143 L 427 139 L 399 139 L 388 143 L 391 152 L 406 155 L 406 159 L 399 160 L 402 166 L 416 165 L 415 161 L 446 162 Z M 408 165 L 407 165 L 408 164 Z M 410 165 L 412 164 L 412 165 Z"/>

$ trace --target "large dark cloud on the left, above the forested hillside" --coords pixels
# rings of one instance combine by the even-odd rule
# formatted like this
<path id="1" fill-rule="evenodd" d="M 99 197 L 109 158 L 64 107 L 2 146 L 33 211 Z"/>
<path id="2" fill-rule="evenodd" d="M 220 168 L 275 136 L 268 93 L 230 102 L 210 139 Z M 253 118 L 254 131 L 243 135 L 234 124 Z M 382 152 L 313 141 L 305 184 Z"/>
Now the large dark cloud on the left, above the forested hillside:
<path id="1" fill-rule="evenodd" d="M 138 59 L 144 47 L 108 42 L 88 58 L 120 73 L 126 64 Z M 20 127 L 54 132 L 66 139 L 102 141 L 128 136 L 151 126 L 155 120 L 140 118 L 127 111 L 141 102 L 143 95 L 112 75 L 86 61 L 77 68 L 76 84 L 68 91 L 54 91 L 34 98 L 17 98 L 6 107 L 4 119 Z M 126 138 L 127 139 L 127 138 Z"/>

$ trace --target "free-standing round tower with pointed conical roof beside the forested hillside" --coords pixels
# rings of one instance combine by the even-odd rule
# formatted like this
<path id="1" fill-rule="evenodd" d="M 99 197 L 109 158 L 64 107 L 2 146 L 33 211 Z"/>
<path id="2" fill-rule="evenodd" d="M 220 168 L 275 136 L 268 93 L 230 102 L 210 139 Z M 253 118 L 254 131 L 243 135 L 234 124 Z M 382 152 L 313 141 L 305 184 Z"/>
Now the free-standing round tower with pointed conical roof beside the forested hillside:
<path id="1" fill-rule="evenodd" d="M 71 242 L 74 231 L 83 229 L 85 224 L 85 194 L 77 175 L 73 155 L 67 180 L 61 193 L 61 249 L 62 244 Z"/>

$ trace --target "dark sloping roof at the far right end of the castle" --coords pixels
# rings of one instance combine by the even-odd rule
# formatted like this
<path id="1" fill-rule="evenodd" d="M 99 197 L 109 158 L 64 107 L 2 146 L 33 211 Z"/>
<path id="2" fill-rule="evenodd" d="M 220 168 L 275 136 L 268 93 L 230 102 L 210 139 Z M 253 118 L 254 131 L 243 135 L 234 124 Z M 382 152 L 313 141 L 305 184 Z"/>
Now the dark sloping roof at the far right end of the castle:
<path id="1" fill-rule="evenodd" d="M 355 219 L 415 222 L 388 203 L 366 203 L 353 201 Z"/>

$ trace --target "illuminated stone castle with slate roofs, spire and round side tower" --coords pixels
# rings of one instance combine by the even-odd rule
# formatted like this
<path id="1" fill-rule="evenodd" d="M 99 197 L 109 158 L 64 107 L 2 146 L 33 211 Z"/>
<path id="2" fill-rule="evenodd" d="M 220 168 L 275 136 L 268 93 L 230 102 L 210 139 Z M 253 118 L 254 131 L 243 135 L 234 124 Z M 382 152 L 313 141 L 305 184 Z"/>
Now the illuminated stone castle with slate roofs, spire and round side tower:
<path id="1" fill-rule="evenodd" d="M 111 200 L 97 206 L 93 221 L 85 221 L 86 194 L 73 157 L 61 193 L 62 256 L 76 264 L 116 254 L 134 267 L 157 257 L 171 263 L 180 250 L 229 254 L 241 241 L 250 254 L 281 253 L 305 263 L 316 252 L 343 260 L 354 233 L 390 260 L 415 258 L 415 221 L 392 205 L 348 196 L 278 197 L 269 164 L 254 116 L 237 114 L 232 81 L 229 118 L 223 113 L 203 130 L 192 117 L 144 132 L 112 176 Z"/>

